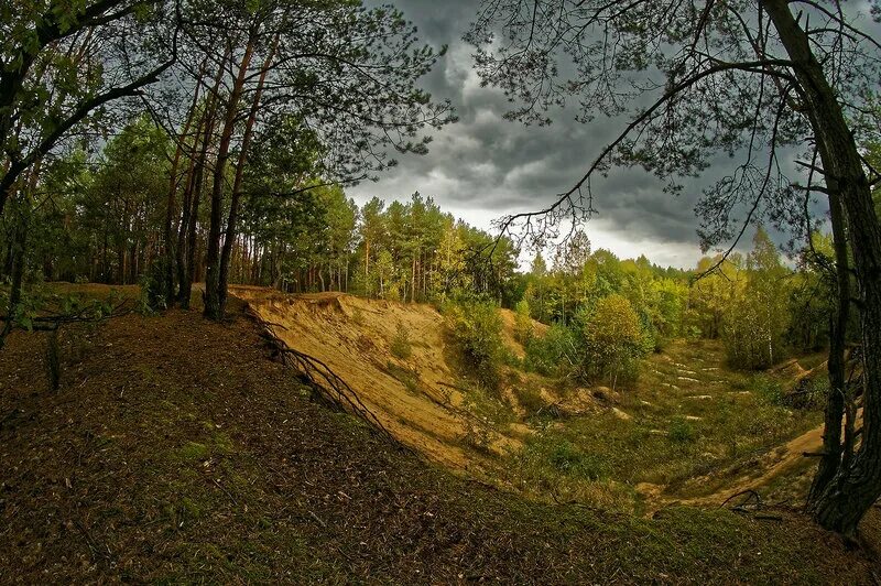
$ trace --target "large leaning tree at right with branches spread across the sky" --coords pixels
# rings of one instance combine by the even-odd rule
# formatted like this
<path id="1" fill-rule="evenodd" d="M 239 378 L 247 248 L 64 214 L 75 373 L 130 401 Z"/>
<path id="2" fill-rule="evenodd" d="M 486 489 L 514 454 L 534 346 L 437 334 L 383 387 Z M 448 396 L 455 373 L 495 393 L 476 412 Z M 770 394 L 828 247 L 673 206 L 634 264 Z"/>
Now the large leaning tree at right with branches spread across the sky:
<path id="1" fill-rule="evenodd" d="M 881 6 L 870 4 L 878 18 Z M 641 165 L 676 193 L 676 177 L 699 174 L 720 153 L 739 163 L 698 203 L 706 248 L 736 245 L 760 218 L 809 238 L 815 199 L 828 200 L 838 311 L 808 507 L 849 536 L 881 496 L 881 226 L 871 197 L 879 174 L 859 146 L 878 123 L 856 122 L 873 111 L 873 25 L 837 0 L 483 0 L 466 35 L 483 82 L 518 105 L 509 118 L 546 123 L 550 108 L 574 99 L 580 121 L 628 120 L 570 189 L 544 209 L 503 218 L 505 232 L 541 237 L 565 218 L 588 219 L 591 177 L 613 165 Z M 851 305 L 861 323 L 861 430 L 845 380 Z"/>

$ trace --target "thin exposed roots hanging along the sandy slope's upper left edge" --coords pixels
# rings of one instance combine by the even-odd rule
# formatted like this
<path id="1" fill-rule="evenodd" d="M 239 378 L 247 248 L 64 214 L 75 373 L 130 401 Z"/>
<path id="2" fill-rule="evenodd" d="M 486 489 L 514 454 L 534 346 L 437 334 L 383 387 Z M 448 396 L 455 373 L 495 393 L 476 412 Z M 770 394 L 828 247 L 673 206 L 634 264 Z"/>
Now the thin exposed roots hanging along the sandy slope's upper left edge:
<path id="1" fill-rule="evenodd" d="M 367 421 L 377 432 L 390 440 L 393 444 L 400 447 L 406 447 L 385 428 L 376 413 L 361 401 L 358 393 L 334 372 L 330 367 L 313 356 L 289 348 L 284 340 L 276 336 L 274 332 L 276 327 L 286 329 L 283 325 L 264 321 L 250 307 L 248 308 L 248 315 L 253 317 L 263 328 L 267 339 L 272 345 L 273 350 L 281 357 L 283 365 L 293 367 L 306 377 L 308 382 L 320 391 L 323 397 L 333 404 Z"/>

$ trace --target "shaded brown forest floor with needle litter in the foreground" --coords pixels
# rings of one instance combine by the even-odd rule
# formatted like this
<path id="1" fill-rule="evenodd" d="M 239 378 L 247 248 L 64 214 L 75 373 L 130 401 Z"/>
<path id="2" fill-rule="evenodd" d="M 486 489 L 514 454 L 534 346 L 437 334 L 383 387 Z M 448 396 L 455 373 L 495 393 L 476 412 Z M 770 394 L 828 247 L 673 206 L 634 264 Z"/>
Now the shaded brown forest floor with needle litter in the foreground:
<path id="1" fill-rule="evenodd" d="M 643 518 L 450 474 L 313 401 L 243 304 L 231 305 L 220 325 L 170 311 L 65 326 L 57 391 L 46 335 L 11 335 L 0 352 L 0 583 L 872 584 L 881 574 L 874 510 L 863 547 L 850 550 L 786 506 L 758 516 L 672 504 Z"/>

